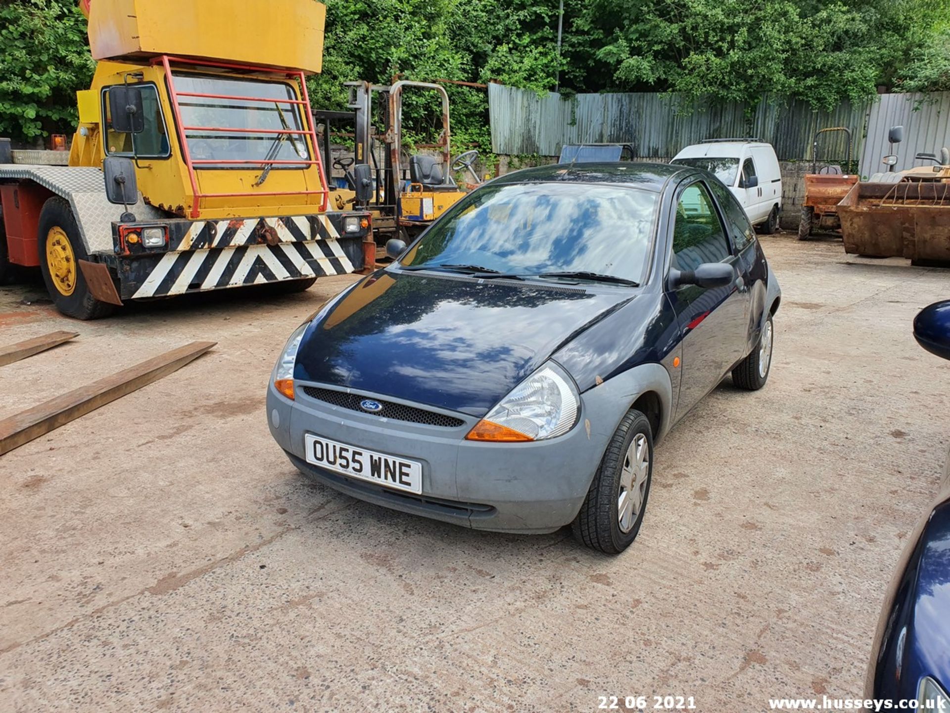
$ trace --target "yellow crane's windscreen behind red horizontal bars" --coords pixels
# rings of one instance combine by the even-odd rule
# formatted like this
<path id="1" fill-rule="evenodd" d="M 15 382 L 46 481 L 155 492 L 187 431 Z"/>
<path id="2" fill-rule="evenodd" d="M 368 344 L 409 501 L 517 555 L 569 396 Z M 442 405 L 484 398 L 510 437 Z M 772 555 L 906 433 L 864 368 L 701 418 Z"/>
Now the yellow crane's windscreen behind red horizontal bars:
<path id="1" fill-rule="evenodd" d="M 179 98 L 181 122 L 186 127 L 184 134 L 193 160 L 251 162 L 310 159 L 310 150 L 303 134 L 276 133 L 304 128 L 299 105 L 287 101 L 296 101 L 295 91 L 290 85 L 194 74 L 176 73 L 174 77 L 176 90 L 184 94 Z M 228 130 L 210 131 L 201 127 Z M 196 167 L 254 168 L 259 165 L 222 163 L 197 164 Z M 275 169 L 306 167 L 307 164 L 274 164 Z"/>

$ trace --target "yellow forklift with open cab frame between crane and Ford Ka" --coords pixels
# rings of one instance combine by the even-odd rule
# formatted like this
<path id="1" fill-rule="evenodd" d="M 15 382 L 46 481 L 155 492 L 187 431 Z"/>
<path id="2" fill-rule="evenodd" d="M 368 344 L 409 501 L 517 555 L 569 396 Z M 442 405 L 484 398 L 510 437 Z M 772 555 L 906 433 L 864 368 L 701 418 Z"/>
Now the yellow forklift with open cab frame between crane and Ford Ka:
<path id="1" fill-rule="evenodd" d="M 375 238 L 380 243 L 403 236 L 414 238 L 448 208 L 481 182 L 475 172 L 478 151 L 450 157 L 448 94 L 445 87 L 428 82 L 400 80 L 391 85 L 348 82 L 350 100 L 348 123 L 354 127 L 353 156 L 338 158 L 333 166 L 349 171 L 352 164 L 371 164 L 369 175 L 373 198 L 365 205 L 373 214 Z M 417 145 L 407 157 L 403 142 L 403 97 L 413 92 L 435 92 L 441 101 L 441 129 L 436 141 Z M 373 109 L 376 109 L 375 113 Z M 317 116 L 347 120 L 343 112 L 316 112 Z M 332 115 L 332 116 L 331 116 Z M 378 142 L 378 144 L 377 144 Z M 377 151 L 379 145 L 382 151 Z M 418 150 L 425 149 L 425 150 Z M 382 156 L 380 156 L 380 153 Z M 471 181 L 459 185 L 453 172 L 465 172 Z M 348 172 L 348 183 L 355 188 Z M 346 191 L 339 194 L 340 202 Z M 352 195 L 352 194 L 350 194 Z"/>

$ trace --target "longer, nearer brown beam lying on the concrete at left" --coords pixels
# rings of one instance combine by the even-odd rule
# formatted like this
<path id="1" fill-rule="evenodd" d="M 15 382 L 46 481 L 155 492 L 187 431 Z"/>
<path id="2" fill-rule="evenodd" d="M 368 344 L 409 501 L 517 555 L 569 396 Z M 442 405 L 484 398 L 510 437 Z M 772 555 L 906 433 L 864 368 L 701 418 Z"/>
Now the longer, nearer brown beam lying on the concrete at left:
<path id="1" fill-rule="evenodd" d="M 193 341 L 0 421 L 0 455 L 177 371 L 218 342 Z"/>

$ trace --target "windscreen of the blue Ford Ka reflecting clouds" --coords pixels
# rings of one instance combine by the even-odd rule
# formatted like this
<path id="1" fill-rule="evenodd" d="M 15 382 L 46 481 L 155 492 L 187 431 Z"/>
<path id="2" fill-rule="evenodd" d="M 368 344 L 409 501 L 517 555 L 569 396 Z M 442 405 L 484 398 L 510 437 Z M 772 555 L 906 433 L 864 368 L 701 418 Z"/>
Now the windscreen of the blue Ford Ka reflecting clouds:
<path id="1" fill-rule="evenodd" d="M 400 261 L 478 265 L 520 276 L 584 271 L 642 282 L 657 194 L 591 183 L 485 185 L 466 196 Z"/>

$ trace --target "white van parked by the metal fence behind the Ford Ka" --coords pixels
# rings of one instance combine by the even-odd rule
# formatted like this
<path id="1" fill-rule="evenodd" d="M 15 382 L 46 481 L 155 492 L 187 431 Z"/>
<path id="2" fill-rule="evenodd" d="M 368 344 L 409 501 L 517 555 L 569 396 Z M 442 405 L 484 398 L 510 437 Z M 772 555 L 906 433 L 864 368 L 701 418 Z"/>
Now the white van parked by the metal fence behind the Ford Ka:
<path id="1" fill-rule="evenodd" d="M 705 168 L 746 209 L 753 225 L 774 233 L 782 210 L 782 172 L 771 144 L 757 139 L 707 139 L 676 154 L 673 164 Z"/>

